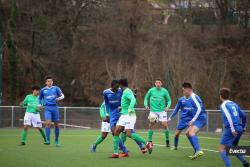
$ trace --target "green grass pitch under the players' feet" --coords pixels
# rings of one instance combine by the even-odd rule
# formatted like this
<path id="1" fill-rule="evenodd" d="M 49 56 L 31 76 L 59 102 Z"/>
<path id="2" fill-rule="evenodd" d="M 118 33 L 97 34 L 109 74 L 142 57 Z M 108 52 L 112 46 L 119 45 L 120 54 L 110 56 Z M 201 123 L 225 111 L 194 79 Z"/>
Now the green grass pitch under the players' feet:
<path id="1" fill-rule="evenodd" d="M 160 131 L 154 134 L 154 150 L 151 155 L 142 155 L 138 146 L 131 139 L 126 146 L 130 157 L 121 159 L 108 158 L 112 154 L 112 138 L 109 136 L 101 143 L 96 153 L 90 153 L 89 148 L 95 141 L 98 130 L 61 130 L 61 147 L 54 144 L 43 145 L 40 134 L 31 129 L 28 133 L 26 146 L 20 143 L 21 129 L 0 129 L 0 164 L 1 167 L 223 167 L 219 153 L 218 134 L 200 134 L 200 144 L 205 155 L 197 160 L 190 160 L 193 153 L 186 137 L 180 138 L 179 150 L 174 151 L 164 147 L 164 136 Z M 146 139 L 146 131 L 138 131 Z M 53 139 L 53 129 L 52 136 Z M 173 144 L 173 134 L 171 134 Z M 244 136 L 240 145 L 250 146 L 250 137 Z M 240 167 L 240 162 L 231 157 L 233 166 Z M 247 158 L 250 161 L 250 158 Z"/>

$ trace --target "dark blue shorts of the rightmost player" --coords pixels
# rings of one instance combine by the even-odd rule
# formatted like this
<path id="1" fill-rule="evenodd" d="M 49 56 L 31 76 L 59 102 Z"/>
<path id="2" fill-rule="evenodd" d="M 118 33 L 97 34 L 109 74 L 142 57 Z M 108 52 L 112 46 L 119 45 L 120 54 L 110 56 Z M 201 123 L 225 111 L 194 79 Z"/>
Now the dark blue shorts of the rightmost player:
<path id="1" fill-rule="evenodd" d="M 230 128 L 225 128 L 225 131 L 221 136 L 220 144 L 225 145 L 227 147 L 237 146 L 240 141 L 243 129 L 239 126 L 235 127 L 235 130 L 238 133 L 236 137 L 233 136 Z"/>

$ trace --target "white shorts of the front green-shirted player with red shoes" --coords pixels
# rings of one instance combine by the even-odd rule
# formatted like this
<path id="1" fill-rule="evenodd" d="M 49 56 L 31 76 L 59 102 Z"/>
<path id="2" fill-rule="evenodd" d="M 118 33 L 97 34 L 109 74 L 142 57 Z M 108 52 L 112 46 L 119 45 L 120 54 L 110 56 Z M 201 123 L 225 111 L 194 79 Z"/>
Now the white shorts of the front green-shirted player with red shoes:
<path id="1" fill-rule="evenodd" d="M 135 128 L 136 117 L 131 117 L 130 115 L 121 115 L 117 126 L 123 126 L 125 130 Z"/>

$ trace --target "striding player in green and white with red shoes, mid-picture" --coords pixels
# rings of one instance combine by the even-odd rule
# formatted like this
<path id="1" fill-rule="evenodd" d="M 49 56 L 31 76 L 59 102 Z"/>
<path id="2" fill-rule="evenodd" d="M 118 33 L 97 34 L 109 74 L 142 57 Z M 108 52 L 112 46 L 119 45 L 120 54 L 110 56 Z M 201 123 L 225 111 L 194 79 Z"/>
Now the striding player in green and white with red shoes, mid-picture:
<path id="1" fill-rule="evenodd" d="M 113 136 L 113 144 L 114 144 L 114 154 L 111 158 L 119 158 L 118 155 L 118 145 L 119 145 L 119 135 L 125 130 L 126 135 L 129 138 L 132 138 L 136 142 L 141 142 L 147 146 L 149 152 L 152 152 L 152 146 L 147 143 L 141 136 L 137 133 L 132 133 L 135 123 L 136 123 L 136 115 L 135 115 L 135 105 L 136 99 L 131 89 L 128 88 L 127 79 L 121 79 L 119 81 L 120 87 L 123 90 L 122 98 L 121 98 L 121 107 L 120 113 L 121 116 L 117 122 L 117 126 L 115 127 L 115 132 Z"/>

